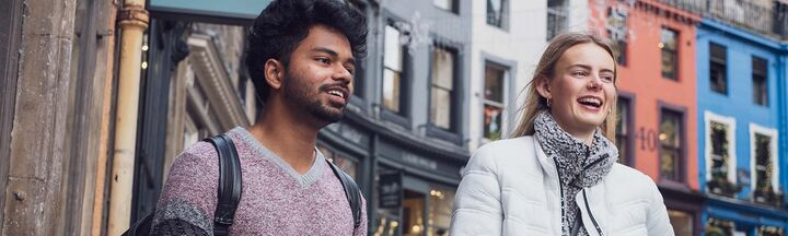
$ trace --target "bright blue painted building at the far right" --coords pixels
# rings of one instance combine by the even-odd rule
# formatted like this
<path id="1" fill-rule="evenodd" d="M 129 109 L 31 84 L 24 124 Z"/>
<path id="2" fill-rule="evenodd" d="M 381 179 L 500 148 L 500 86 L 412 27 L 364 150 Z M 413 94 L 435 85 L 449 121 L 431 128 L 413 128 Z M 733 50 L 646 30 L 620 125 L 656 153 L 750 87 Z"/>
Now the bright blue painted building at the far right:
<path id="1" fill-rule="evenodd" d="M 696 44 L 706 235 L 785 235 L 788 47 L 709 20 Z"/>

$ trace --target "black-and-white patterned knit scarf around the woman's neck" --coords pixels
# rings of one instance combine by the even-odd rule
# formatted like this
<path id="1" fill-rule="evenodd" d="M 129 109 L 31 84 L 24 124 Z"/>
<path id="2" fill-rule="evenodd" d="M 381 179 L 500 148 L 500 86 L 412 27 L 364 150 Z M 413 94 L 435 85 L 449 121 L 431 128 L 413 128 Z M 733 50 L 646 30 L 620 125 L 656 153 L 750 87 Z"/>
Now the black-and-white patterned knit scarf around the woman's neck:
<path id="1" fill-rule="evenodd" d="M 613 168 L 618 157 L 618 150 L 613 142 L 602 135 L 596 129 L 592 145 L 571 137 L 564 131 L 548 111 L 536 115 L 534 120 L 536 140 L 549 158 L 554 158 L 558 167 L 561 187 L 561 217 L 563 235 L 569 235 L 578 217 L 579 206 L 575 196 L 582 189 L 599 184 Z M 578 235 L 588 235 L 580 224 Z"/>

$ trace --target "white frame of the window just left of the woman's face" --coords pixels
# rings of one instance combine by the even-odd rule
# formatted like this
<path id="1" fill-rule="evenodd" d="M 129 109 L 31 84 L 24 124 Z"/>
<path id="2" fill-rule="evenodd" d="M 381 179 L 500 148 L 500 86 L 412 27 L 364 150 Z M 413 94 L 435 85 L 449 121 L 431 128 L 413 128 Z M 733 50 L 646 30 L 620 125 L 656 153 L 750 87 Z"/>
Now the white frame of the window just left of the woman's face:
<path id="1" fill-rule="evenodd" d="M 482 99 L 480 99 L 480 101 L 482 101 L 482 106 L 480 106 L 480 109 L 479 109 L 479 110 L 482 110 L 482 113 L 484 113 L 484 106 L 487 105 L 487 104 L 496 105 L 496 106 L 501 106 L 501 109 L 503 109 L 503 113 L 501 113 L 501 115 L 500 115 L 500 116 L 501 116 L 501 123 L 500 123 L 500 126 L 501 126 L 501 127 L 500 127 L 501 138 L 500 138 L 500 139 L 503 140 L 506 137 L 508 137 L 507 133 L 509 132 L 509 116 L 508 116 L 507 114 L 509 113 L 508 110 L 510 110 L 510 107 L 509 107 L 509 81 L 510 81 L 510 79 L 509 79 L 509 78 L 511 76 L 511 68 L 506 67 L 506 66 L 501 66 L 500 63 L 496 63 L 496 62 L 494 62 L 494 61 L 485 60 L 484 64 L 482 66 L 482 69 L 485 71 L 485 73 L 486 73 L 487 64 L 488 64 L 488 63 L 494 64 L 494 67 L 498 67 L 498 68 L 500 68 L 500 69 L 503 69 L 503 81 L 501 81 L 501 83 L 503 83 L 503 87 L 501 87 L 501 90 L 503 90 L 503 96 L 501 97 L 501 103 L 494 102 L 494 101 L 487 99 L 487 98 L 485 97 L 485 95 L 484 95 L 484 90 L 485 90 L 485 85 L 486 85 L 486 82 L 487 82 L 487 81 L 486 81 L 487 78 L 485 78 L 485 76 L 486 76 L 486 74 L 485 74 L 485 76 L 482 78 L 482 91 L 478 93 L 478 94 L 479 94 L 479 95 L 478 95 L 479 98 L 482 98 Z M 482 133 L 482 134 L 479 135 L 479 137 L 482 137 L 482 143 L 480 143 L 480 144 L 485 144 L 485 143 L 491 142 L 493 140 L 487 139 L 487 138 L 484 137 L 484 135 L 485 135 L 485 134 L 484 134 L 484 126 L 485 126 L 484 119 L 482 119 L 480 125 L 482 125 L 482 126 L 480 126 L 480 127 L 482 127 L 482 130 L 480 130 L 480 133 Z M 479 146 L 480 146 L 480 145 L 479 145 Z"/>

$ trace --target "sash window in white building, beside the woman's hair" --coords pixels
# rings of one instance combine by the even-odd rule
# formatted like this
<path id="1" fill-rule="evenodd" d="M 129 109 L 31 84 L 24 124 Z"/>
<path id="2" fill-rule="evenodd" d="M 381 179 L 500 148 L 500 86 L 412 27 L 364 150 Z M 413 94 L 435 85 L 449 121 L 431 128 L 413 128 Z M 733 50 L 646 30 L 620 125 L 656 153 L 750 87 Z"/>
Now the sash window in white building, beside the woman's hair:
<path id="1" fill-rule="evenodd" d="M 503 129 L 503 108 L 507 70 L 503 67 L 487 63 L 484 86 L 484 138 L 499 140 Z"/>

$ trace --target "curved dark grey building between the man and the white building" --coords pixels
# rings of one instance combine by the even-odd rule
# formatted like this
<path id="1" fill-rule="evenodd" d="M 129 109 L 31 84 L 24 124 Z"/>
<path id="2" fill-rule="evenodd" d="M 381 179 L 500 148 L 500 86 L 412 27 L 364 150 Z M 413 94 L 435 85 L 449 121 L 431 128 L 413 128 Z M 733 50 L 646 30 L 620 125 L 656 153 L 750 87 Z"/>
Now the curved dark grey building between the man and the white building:
<path id="1" fill-rule="evenodd" d="M 369 54 L 318 149 L 364 190 L 371 235 L 444 235 L 468 158 L 471 1 L 356 4 Z"/>

